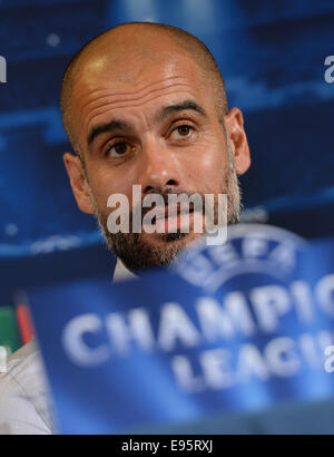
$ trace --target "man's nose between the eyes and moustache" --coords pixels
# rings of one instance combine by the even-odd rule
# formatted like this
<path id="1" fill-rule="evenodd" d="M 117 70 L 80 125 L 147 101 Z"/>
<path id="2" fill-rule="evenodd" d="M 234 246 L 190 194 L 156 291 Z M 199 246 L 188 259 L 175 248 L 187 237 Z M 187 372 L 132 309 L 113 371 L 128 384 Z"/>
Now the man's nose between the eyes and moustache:
<path id="1" fill-rule="evenodd" d="M 175 154 L 158 142 L 147 142 L 141 150 L 139 182 L 144 195 L 180 188 L 181 169 Z"/>

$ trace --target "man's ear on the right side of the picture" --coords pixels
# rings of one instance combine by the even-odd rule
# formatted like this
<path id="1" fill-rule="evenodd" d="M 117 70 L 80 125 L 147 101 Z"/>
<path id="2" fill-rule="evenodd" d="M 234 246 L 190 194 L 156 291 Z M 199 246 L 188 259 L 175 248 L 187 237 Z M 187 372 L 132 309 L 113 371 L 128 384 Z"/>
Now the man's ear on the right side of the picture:
<path id="1" fill-rule="evenodd" d="M 250 153 L 244 129 L 243 114 L 238 108 L 232 108 L 224 116 L 224 121 L 234 150 L 236 174 L 243 175 L 250 166 Z"/>

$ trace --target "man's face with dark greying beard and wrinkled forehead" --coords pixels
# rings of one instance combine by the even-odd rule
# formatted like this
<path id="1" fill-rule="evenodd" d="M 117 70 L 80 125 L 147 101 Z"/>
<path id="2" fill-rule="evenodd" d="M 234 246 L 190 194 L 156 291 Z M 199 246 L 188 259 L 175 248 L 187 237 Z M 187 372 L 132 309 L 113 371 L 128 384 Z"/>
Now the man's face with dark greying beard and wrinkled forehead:
<path id="1" fill-rule="evenodd" d="M 131 208 L 134 185 L 141 186 L 141 200 L 156 193 L 166 203 L 169 193 L 227 193 L 228 220 L 236 222 L 234 144 L 226 140 L 214 90 L 187 55 L 150 64 L 127 61 L 118 75 L 112 65 L 95 64 L 79 79 L 72 100 L 72 125 L 90 195 L 88 203 L 76 188 L 75 158 L 68 157 L 79 207 L 96 214 L 109 247 L 130 270 L 170 263 L 199 234 L 191 224 L 189 233 L 111 234 L 111 194 L 125 195 Z"/>

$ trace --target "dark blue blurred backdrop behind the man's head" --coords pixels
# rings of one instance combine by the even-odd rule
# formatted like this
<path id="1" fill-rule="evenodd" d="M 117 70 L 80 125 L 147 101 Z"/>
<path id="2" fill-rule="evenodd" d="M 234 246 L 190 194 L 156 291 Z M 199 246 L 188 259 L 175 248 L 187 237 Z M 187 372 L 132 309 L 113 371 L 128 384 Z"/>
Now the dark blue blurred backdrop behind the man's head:
<path id="1" fill-rule="evenodd" d="M 62 165 L 66 65 L 120 22 L 181 27 L 213 51 L 253 155 L 244 218 L 306 237 L 334 232 L 332 0 L 2 0 L 0 305 L 18 288 L 112 271 L 95 221 L 77 208 Z"/>

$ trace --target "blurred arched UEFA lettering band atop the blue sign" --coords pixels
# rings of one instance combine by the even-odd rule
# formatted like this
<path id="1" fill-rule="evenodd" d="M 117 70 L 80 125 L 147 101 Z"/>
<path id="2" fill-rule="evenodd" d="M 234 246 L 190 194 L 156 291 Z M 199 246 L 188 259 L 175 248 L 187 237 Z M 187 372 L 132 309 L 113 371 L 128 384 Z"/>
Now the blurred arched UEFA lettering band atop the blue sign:
<path id="1" fill-rule="evenodd" d="M 227 242 L 219 249 L 207 249 L 199 241 L 197 246 L 180 255 L 174 270 L 209 293 L 216 293 L 227 281 L 237 282 L 248 274 L 264 274 L 281 281 L 294 272 L 297 253 L 304 244 L 298 235 L 276 226 L 236 224 L 228 227 Z M 272 288 L 274 295 L 278 289 Z M 281 298 L 287 303 L 285 292 L 281 288 L 275 300 Z M 277 307 L 284 308 L 278 302 Z"/>

